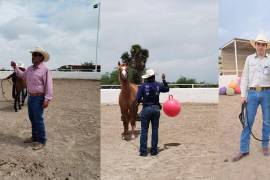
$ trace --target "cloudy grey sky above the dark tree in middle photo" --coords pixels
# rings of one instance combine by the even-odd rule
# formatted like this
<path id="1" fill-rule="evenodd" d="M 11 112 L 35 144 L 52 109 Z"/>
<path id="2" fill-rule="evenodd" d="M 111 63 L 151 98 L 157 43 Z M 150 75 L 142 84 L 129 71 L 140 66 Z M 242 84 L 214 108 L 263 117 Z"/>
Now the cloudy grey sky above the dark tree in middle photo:
<path id="1" fill-rule="evenodd" d="M 180 76 L 217 82 L 217 0 L 103 0 L 100 60 L 111 72 L 123 52 L 140 44 L 147 67 L 169 81 Z M 158 77 L 159 78 L 159 77 Z"/>

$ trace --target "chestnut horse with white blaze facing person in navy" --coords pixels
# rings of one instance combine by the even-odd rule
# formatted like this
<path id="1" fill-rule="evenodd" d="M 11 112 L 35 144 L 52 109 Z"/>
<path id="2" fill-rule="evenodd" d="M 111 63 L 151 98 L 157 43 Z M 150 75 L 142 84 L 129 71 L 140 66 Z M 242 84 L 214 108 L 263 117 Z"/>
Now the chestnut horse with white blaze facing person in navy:
<path id="1" fill-rule="evenodd" d="M 129 123 L 131 124 L 131 139 L 135 138 L 136 118 L 138 112 L 138 104 L 136 95 L 138 87 L 128 80 L 128 66 L 118 62 L 118 75 L 121 83 L 121 92 L 119 94 L 119 106 L 121 109 L 121 120 L 123 121 L 124 132 L 122 138 L 127 140 Z"/>

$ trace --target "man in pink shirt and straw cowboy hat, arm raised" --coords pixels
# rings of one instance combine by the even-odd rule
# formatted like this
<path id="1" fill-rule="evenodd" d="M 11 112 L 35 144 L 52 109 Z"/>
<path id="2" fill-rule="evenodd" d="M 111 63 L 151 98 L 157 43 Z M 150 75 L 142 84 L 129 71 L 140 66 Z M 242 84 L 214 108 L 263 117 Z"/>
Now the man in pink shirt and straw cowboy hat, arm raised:
<path id="1" fill-rule="evenodd" d="M 43 111 L 52 100 L 52 75 L 44 64 L 50 58 L 49 53 L 40 47 L 30 51 L 33 65 L 25 72 L 21 71 L 14 61 L 11 66 L 16 75 L 25 79 L 28 91 L 28 115 L 32 125 L 32 137 L 25 143 L 33 143 L 33 150 L 42 149 L 46 144 L 46 131 Z"/>

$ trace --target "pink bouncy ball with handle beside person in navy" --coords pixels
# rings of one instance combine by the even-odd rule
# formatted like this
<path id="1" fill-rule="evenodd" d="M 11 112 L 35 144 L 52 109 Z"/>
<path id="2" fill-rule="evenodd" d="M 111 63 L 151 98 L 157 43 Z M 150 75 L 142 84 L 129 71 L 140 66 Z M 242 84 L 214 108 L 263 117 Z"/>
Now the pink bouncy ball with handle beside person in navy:
<path id="1" fill-rule="evenodd" d="M 163 111 L 169 117 L 177 116 L 181 111 L 181 104 L 169 95 L 168 100 L 163 104 Z"/>

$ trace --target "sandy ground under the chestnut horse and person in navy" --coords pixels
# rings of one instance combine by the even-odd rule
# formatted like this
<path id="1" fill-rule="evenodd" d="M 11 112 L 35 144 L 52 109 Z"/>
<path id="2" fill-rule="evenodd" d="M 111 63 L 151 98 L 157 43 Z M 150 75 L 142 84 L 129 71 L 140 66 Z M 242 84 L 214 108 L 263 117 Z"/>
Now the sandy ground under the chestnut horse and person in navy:
<path id="1" fill-rule="evenodd" d="M 138 156 L 139 137 L 121 139 L 119 106 L 101 106 L 101 179 L 218 179 L 221 160 L 217 129 L 218 105 L 183 104 L 181 114 L 162 112 L 157 156 Z M 137 123 L 140 130 L 140 123 Z M 148 147 L 150 147 L 151 128 Z M 223 161 L 222 161 L 223 163 Z"/>

